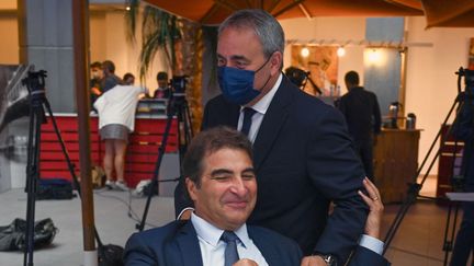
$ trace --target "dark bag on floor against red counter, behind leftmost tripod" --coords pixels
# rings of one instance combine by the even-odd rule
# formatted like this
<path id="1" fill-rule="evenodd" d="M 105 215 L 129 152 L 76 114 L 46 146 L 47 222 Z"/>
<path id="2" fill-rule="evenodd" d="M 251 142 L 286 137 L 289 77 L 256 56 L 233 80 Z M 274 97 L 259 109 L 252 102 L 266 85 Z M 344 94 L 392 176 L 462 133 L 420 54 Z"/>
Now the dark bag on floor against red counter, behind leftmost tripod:
<path id="1" fill-rule="evenodd" d="M 64 178 L 41 178 L 36 193 L 37 199 L 71 199 L 72 183 Z"/>

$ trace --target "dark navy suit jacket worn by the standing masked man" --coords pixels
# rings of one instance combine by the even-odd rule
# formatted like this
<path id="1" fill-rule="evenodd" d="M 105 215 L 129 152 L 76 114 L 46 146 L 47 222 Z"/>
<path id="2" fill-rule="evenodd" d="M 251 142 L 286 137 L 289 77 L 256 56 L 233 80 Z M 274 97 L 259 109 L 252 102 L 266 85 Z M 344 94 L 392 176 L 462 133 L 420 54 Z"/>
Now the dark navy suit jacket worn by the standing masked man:
<path id="1" fill-rule="evenodd" d="M 222 95 L 211 100 L 203 128 L 237 128 L 240 106 Z M 357 194 L 365 176 L 345 119 L 283 76 L 253 143 L 258 196 L 248 224 L 295 240 L 304 254 L 336 255 L 343 265 L 363 232 L 368 207 Z M 336 207 L 328 218 L 329 203 Z M 177 187 L 179 213 L 192 206 Z"/>

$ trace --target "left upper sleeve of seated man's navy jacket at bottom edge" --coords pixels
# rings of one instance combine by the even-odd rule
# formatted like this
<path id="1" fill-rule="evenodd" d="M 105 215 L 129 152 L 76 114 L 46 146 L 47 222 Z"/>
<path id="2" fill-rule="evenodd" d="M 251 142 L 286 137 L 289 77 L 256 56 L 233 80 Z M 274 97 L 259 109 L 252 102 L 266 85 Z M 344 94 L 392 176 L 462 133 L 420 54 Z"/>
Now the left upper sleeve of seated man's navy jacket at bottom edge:
<path id="1" fill-rule="evenodd" d="M 144 242 L 138 233 L 134 233 L 125 245 L 123 255 L 124 265 L 126 266 L 149 266 L 157 265 L 155 253 Z"/>

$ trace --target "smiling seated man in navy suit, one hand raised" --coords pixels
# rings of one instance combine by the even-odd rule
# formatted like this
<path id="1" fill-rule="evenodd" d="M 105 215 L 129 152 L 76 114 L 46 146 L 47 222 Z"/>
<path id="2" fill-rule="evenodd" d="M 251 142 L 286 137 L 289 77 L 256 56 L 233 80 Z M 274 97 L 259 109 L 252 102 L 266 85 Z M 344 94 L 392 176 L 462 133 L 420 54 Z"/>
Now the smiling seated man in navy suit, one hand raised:
<path id="1" fill-rule="evenodd" d="M 304 265 L 296 242 L 246 224 L 257 200 L 246 136 L 226 127 L 202 131 L 192 140 L 182 170 L 195 207 L 191 219 L 133 234 L 125 246 L 125 265 Z M 376 238 L 383 206 L 373 184 L 364 185 L 369 196 L 360 194 L 371 208 L 366 231 Z M 360 246 L 350 265 L 368 263 L 387 264 Z"/>

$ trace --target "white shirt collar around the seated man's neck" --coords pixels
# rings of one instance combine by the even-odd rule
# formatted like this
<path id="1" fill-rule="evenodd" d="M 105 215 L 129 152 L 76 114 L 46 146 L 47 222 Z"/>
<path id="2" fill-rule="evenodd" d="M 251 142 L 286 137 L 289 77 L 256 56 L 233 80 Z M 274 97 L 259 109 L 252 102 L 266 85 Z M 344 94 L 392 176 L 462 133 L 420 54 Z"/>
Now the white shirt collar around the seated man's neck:
<path id="1" fill-rule="evenodd" d="M 196 234 L 201 239 L 213 246 L 217 246 L 224 230 L 216 228 L 194 212 L 191 213 L 191 222 L 196 231 Z M 250 238 L 247 232 L 247 224 L 244 223 L 240 228 L 235 230 L 234 233 L 237 234 L 240 243 L 242 243 L 245 247 L 250 246 Z"/>

